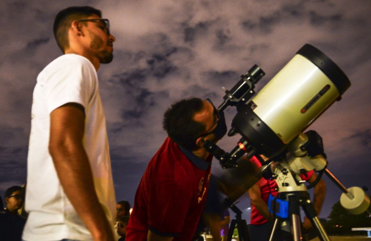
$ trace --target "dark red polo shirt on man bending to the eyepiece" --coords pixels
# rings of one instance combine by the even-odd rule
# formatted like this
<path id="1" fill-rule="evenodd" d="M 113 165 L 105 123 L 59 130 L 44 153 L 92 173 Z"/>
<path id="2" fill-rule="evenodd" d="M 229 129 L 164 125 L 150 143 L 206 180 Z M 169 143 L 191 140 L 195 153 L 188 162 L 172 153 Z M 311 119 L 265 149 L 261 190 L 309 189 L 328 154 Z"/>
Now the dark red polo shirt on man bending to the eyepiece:
<path id="1" fill-rule="evenodd" d="M 191 240 L 206 201 L 211 159 L 166 138 L 139 183 L 126 240 L 147 240 L 148 229 L 174 241 Z"/>

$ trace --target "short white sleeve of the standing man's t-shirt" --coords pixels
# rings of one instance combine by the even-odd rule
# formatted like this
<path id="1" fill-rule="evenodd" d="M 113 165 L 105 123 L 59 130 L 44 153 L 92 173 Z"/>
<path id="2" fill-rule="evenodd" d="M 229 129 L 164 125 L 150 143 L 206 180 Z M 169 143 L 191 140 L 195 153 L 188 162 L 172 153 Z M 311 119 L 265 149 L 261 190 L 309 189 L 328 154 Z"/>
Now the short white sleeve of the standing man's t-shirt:
<path id="1" fill-rule="evenodd" d="M 85 59 L 65 59 L 56 63 L 44 79 L 49 114 L 66 103 L 78 103 L 86 109 L 95 91 L 95 69 Z"/>

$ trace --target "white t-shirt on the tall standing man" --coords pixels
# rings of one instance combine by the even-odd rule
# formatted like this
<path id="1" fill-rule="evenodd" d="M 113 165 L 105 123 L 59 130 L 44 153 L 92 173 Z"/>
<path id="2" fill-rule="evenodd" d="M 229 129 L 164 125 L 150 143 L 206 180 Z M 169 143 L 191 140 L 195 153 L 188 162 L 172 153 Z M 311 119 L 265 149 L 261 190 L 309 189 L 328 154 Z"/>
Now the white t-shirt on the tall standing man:
<path id="1" fill-rule="evenodd" d="M 113 231 L 116 201 L 98 76 L 88 59 L 67 54 L 40 72 L 33 92 L 25 201 L 29 217 L 22 236 L 27 241 L 92 240 L 60 185 L 48 151 L 50 113 L 70 102 L 85 109 L 83 145 L 96 194 Z"/>

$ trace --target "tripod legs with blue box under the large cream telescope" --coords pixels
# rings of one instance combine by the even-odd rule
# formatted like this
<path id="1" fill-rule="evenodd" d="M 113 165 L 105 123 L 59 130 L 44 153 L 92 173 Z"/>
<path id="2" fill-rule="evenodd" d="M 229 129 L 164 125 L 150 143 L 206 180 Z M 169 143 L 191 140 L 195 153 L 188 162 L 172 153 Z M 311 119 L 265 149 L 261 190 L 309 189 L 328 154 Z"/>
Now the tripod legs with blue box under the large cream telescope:
<path id="1" fill-rule="evenodd" d="M 316 211 L 313 207 L 311 200 L 309 199 L 309 194 L 306 191 L 293 191 L 293 192 L 281 192 L 278 194 L 280 200 L 288 201 L 288 215 L 282 215 L 279 217 L 275 215 L 275 220 L 270 230 L 269 241 L 275 240 L 275 234 L 277 234 L 277 229 L 282 228 L 284 240 L 300 241 L 303 240 L 302 230 L 301 230 L 301 219 L 300 219 L 300 207 L 305 212 L 306 217 L 311 220 L 313 227 L 319 232 L 319 238 L 322 241 L 330 241 L 328 238 L 322 224 L 319 222 Z M 270 199 L 269 206 L 272 207 L 273 211 L 280 209 L 279 202 L 277 199 Z M 272 203 L 273 202 L 273 203 Z M 280 227 L 279 227 L 280 226 Z M 285 232 L 291 233 L 290 235 L 285 235 Z"/>

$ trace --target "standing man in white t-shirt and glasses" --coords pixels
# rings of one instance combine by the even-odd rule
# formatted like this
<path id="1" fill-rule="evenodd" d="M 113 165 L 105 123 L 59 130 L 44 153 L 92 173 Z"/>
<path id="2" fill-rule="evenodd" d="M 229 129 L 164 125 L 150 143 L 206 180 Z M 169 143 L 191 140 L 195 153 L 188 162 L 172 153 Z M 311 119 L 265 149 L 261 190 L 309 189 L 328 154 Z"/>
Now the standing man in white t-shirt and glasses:
<path id="1" fill-rule="evenodd" d="M 69 7 L 54 22 L 65 55 L 37 76 L 27 158 L 23 240 L 114 240 L 115 192 L 98 88 L 115 37 L 92 7 Z"/>

